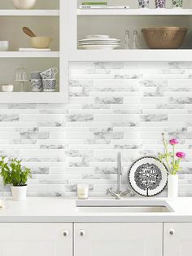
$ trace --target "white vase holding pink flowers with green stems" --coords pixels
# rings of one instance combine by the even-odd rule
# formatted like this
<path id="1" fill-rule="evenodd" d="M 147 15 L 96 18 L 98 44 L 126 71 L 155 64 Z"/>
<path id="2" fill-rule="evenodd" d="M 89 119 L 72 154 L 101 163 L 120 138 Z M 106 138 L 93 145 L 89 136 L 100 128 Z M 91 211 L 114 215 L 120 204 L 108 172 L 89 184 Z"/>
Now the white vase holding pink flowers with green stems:
<path id="1" fill-rule="evenodd" d="M 176 198 L 178 196 L 178 175 L 181 171 L 181 160 L 185 158 L 185 152 L 176 152 L 177 139 L 167 141 L 163 135 L 164 154 L 159 153 L 159 160 L 167 166 L 168 169 L 168 197 Z M 169 151 L 169 148 L 172 151 Z"/>

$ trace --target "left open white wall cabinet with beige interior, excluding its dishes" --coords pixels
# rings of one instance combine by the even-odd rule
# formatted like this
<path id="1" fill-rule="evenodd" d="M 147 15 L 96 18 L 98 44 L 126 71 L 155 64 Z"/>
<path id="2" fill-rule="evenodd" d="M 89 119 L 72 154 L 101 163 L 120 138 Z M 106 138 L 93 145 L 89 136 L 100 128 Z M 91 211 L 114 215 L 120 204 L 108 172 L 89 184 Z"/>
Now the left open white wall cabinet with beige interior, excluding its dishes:
<path id="1" fill-rule="evenodd" d="M 30 82 L 24 92 L 18 86 L 15 91 L 0 91 L 1 103 L 67 103 L 68 101 L 68 49 L 64 33 L 68 33 L 68 0 L 39 1 L 36 10 L 15 10 L 11 2 L 0 4 L 1 40 L 10 42 L 10 51 L 0 51 L 1 84 L 14 83 L 15 69 L 24 64 L 30 71 L 59 68 L 55 92 L 32 92 Z M 51 51 L 18 51 L 30 48 L 30 38 L 22 27 L 27 26 L 38 36 L 51 36 Z M 7 31 L 9 33 L 7 33 Z M 29 77 L 28 77 L 29 78 Z"/>

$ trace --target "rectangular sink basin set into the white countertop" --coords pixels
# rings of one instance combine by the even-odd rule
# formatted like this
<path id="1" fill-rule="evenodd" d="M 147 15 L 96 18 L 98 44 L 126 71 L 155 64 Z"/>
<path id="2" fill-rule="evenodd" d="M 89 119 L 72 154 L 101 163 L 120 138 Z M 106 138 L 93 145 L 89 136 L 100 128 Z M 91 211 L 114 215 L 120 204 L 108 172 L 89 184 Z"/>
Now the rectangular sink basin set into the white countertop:
<path id="1" fill-rule="evenodd" d="M 79 213 L 168 213 L 167 201 L 76 201 Z"/>

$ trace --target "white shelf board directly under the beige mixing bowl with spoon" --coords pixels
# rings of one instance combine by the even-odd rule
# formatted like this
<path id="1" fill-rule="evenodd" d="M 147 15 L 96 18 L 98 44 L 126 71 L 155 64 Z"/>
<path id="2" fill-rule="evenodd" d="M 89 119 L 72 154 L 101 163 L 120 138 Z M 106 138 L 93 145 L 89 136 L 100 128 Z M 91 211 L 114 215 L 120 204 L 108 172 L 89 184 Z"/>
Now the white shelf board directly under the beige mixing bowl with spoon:
<path id="1" fill-rule="evenodd" d="M 0 58 L 59 58 L 59 51 L 0 51 Z"/>

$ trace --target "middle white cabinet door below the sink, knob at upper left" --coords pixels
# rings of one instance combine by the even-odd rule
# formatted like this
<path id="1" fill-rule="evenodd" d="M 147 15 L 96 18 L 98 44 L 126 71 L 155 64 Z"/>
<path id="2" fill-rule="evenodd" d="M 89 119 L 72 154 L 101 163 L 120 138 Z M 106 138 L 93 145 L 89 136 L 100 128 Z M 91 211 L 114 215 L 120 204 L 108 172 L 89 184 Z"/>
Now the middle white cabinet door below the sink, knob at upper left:
<path id="1" fill-rule="evenodd" d="M 162 256 L 163 223 L 76 223 L 74 256 Z"/>

